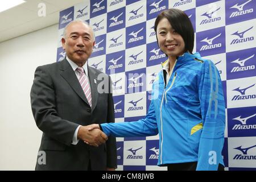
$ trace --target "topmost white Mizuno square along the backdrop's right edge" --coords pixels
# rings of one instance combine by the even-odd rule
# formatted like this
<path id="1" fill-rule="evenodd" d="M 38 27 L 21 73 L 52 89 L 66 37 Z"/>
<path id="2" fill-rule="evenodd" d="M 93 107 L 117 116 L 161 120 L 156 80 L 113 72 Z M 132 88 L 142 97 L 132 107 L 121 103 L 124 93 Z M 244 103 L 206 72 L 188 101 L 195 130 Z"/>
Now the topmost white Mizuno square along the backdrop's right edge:
<path id="1" fill-rule="evenodd" d="M 256 19 L 226 26 L 226 52 L 256 46 Z"/>

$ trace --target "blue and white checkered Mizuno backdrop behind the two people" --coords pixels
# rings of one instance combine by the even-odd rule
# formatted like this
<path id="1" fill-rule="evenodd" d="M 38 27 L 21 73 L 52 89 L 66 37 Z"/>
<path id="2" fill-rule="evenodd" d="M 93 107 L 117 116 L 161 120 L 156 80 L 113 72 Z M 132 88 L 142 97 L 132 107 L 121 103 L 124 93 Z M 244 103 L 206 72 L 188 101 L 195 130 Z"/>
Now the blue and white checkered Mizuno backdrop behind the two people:
<path id="1" fill-rule="evenodd" d="M 220 72 L 226 169 L 256 170 L 256 0 L 87 0 L 60 12 L 57 61 L 65 56 L 64 27 L 88 22 L 96 34 L 88 64 L 112 77 L 115 122 L 137 121 L 147 114 L 152 82 L 167 59 L 156 43 L 155 18 L 172 7 L 192 21 L 194 52 Z M 166 170 L 156 166 L 158 151 L 158 136 L 117 138 L 118 169 Z"/>

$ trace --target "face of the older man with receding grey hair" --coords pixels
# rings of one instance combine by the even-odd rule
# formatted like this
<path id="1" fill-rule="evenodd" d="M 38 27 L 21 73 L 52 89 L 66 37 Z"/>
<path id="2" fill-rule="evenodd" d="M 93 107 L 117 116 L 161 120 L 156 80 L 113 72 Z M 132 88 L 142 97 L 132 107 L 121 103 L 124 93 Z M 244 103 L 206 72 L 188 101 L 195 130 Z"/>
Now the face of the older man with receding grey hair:
<path id="1" fill-rule="evenodd" d="M 68 58 L 80 66 L 90 57 L 95 44 L 92 29 L 82 22 L 69 24 L 61 42 Z"/>

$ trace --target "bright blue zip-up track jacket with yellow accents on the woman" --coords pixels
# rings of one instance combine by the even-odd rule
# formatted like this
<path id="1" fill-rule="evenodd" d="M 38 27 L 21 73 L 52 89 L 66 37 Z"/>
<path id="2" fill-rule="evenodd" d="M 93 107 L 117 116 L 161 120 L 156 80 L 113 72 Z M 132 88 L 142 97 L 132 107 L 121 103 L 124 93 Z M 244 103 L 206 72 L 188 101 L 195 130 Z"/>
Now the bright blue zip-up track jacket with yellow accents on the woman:
<path id="1" fill-rule="evenodd" d="M 158 166 L 197 162 L 197 170 L 217 170 L 219 163 L 224 165 L 225 101 L 212 61 L 202 59 L 199 53 L 177 57 L 167 85 L 163 71 L 158 73 L 151 98 L 145 118 L 103 123 L 104 133 L 115 137 L 159 133 Z"/>

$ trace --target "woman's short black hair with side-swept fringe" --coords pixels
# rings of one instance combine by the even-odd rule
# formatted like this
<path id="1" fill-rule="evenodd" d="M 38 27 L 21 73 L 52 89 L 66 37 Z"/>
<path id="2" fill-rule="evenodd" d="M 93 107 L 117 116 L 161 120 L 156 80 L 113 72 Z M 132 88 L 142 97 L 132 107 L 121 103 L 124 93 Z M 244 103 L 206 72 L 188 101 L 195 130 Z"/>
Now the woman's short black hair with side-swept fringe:
<path id="1" fill-rule="evenodd" d="M 185 52 L 189 51 L 192 53 L 194 47 L 194 29 L 191 23 L 191 20 L 188 18 L 188 15 L 179 9 L 168 9 L 162 11 L 155 20 L 154 30 L 158 27 L 158 23 L 163 18 L 166 18 L 171 24 L 172 28 L 180 34 L 185 43 Z M 157 40 L 156 34 L 156 40 Z"/>

